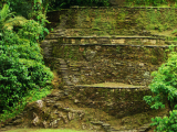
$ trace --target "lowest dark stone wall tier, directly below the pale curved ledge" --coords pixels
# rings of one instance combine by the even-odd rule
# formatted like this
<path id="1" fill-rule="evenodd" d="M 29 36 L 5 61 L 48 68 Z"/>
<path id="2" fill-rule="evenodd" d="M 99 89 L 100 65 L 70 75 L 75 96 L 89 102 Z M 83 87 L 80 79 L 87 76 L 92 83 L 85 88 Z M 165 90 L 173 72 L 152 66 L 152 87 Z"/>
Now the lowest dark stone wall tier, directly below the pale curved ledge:
<path id="1" fill-rule="evenodd" d="M 149 106 L 143 101 L 143 97 L 149 95 L 152 95 L 150 90 L 143 88 L 113 89 L 83 86 L 75 87 L 73 91 L 75 103 L 102 109 L 116 118 L 150 110 Z"/>

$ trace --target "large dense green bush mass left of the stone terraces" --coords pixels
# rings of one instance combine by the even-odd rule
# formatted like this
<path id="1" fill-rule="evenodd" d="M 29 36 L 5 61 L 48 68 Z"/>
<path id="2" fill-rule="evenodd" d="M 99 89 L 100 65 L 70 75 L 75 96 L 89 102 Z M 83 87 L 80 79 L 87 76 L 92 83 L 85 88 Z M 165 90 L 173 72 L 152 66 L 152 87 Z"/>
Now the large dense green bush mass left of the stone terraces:
<path id="1" fill-rule="evenodd" d="M 1 25 L 0 112 L 11 110 L 29 91 L 45 89 L 53 79 L 37 43 L 49 31 L 34 20 L 20 20 L 9 19 Z"/>

